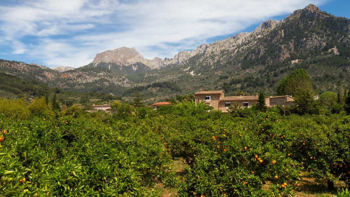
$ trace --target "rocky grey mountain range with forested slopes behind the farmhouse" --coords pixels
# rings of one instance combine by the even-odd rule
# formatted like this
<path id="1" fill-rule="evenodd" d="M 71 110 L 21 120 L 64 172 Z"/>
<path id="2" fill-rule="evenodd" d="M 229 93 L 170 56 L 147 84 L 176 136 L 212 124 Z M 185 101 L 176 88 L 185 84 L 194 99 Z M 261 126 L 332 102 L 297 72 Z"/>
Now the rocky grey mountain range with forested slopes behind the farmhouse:
<path id="1" fill-rule="evenodd" d="M 315 5 L 280 21 L 268 20 L 254 31 L 181 51 L 173 58 L 145 59 L 135 48 L 96 55 L 83 67 L 47 68 L 0 60 L 2 72 L 38 80 L 52 87 L 104 92 L 130 99 L 137 90 L 149 101 L 165 100 L 198 89 L 263 90 L 274 95 L 278 82 L 297 68 L 307 70 L 315 93 L 349 86 L 350 20 Z"/>

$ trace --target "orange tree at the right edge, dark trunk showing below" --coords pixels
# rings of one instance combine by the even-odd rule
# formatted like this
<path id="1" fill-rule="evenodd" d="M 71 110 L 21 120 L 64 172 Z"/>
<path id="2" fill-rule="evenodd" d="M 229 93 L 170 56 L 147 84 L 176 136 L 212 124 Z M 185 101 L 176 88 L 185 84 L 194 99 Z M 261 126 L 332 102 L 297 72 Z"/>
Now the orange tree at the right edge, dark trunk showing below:
<path id="1" fill-rule="evenodd" d="M 335 180 L 349 186 L 350 118 L 332 115 L 313 118 L 294 117 L 285 128 L 297 134 L 290 147 L 292 158 L 308 169 L 317 181 L 326 181 L 332 190 Z"/>

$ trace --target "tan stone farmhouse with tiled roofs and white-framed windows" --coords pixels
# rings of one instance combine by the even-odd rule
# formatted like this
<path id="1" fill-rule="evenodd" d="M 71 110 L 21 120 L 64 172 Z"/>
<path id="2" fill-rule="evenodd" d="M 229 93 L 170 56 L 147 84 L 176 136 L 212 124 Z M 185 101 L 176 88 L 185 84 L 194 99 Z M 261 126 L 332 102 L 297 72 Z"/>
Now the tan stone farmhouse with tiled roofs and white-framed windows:
<path id="1" fill-rule="evenodd" d="M 252 107 L 253 103 L 258 103 L 258 94 L 255 94 L 255 96 L 224 96 L 224 92 L 224 90 L 202 91 L 201 89 L 194 94 L 196 106 L 198 102 L 204 101 L 216 110 L 227 112 L 229 106 L 234 102 L 242 107 Z M 294 98 L 292 96 L 268 96 L 265 97 L 265 102 L 268 107 L 279 104 L 290 106 L 294 105 Z"/>

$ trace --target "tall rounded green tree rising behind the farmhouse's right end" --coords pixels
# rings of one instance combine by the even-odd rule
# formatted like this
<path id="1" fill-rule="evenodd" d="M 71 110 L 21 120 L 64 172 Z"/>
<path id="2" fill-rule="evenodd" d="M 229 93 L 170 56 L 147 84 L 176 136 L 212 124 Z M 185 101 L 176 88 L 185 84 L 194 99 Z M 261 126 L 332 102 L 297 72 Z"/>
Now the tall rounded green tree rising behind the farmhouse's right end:
<path id="1" fill-rule="evenodd" d="M 283 78 L 276 88 L 276 93 L 279 96 L 295 96 L 298 89 L 313 91 L 310 76 L 307 74 L 305 69 L 296 69 L 287 77 Z"/>

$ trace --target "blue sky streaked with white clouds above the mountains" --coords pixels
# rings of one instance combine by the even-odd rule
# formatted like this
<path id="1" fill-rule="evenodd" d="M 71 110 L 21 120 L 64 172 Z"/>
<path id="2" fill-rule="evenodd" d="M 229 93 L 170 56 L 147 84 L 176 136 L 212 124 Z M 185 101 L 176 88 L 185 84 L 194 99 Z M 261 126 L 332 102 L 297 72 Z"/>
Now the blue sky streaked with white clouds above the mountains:
<path id="1" fill-rule="evenodd" d="M 1 0 L 0 59 L 80 67 L 123 46 L 172 58 L 308 4 L 350 18 L 349 0 Z"/>

